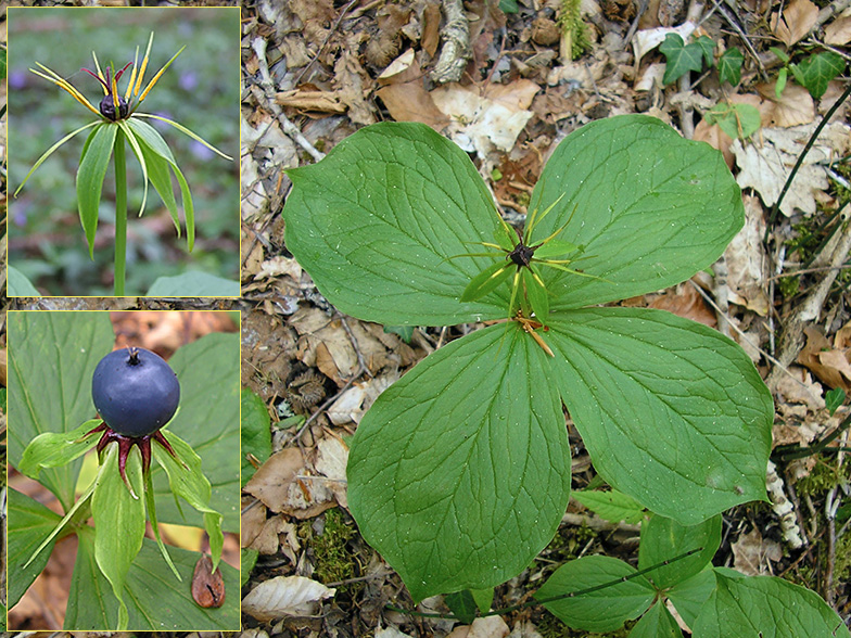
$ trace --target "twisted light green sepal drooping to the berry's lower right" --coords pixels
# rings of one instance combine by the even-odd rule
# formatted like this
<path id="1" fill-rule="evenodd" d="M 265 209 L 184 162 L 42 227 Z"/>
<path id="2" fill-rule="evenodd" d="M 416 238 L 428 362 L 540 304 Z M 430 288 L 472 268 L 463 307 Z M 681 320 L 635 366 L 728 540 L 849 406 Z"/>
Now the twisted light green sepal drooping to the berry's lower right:
<path id="1" fill-rule="evenodd" d="M 151 454 L 156 462 L 168 474 L 168 483 L 175 496 L 180 496 L 199 512 L 204 514 L 204 527 L 209 535 L 209 551 L 213 559 L 213 571 L 221 559 L 224 535 L 221 533 L 221 514 L 209 507 L 209 481 L 201 471 L 201 457 L 177 435 L 161 431 L 177 455 L 175 459 L 158 443 L 151 446 Z M 179 460 L 178 460 L 179 459 Z"/>

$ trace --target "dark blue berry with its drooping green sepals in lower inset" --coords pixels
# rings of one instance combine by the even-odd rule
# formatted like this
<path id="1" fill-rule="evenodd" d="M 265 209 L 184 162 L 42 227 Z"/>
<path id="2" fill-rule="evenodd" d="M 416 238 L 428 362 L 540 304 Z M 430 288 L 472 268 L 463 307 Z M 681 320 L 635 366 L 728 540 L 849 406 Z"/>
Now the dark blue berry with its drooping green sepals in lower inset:
<path id="1" fill-rule="evenodd" d="M 119 102 L 114 102 L 119 103 Z M 94 561 L 118 600 L 116 630 L 127 629 L 125 584 L 142 549 L 145 519 L 150 520 L 163 559 L 182 580 L 160 535 L 151 460 L 168 476 L 172 493 L 201 512 L 209 535 L 213 573 L 221 559 L 223 515 L 211 509 L 211 484 L 201 458 L 187 442 L 168 432 L 178 411 L 180 384 L 156 354 L 137 347 L 115 350 L 94 369 L 91 396 L 99 419 L 69 432 L 46 432 L 24 449 L 18 469 L 37 480 L 49 468 L 64 467 L 97 448 L 100 467 L 94 480 L 67 510 L 23 565 L 26 570 L 73 522 L 94 521 Z M 220 605 L 223 600 L 216 601 Z"/>

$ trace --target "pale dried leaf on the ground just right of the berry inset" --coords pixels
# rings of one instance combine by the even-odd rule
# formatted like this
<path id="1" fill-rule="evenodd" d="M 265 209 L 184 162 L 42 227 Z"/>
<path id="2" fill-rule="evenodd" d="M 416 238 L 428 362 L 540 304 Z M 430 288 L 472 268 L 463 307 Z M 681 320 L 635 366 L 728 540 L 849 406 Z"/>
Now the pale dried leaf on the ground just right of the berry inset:
<path id="1" fill-rule="evenodd" d="M 335 592 L 336 589 L 304 576 L 277 576 L 249 591 L 242 599 L 242 611 L 261 622 L 309 616 L 318 611 L 319 601 Z"/>

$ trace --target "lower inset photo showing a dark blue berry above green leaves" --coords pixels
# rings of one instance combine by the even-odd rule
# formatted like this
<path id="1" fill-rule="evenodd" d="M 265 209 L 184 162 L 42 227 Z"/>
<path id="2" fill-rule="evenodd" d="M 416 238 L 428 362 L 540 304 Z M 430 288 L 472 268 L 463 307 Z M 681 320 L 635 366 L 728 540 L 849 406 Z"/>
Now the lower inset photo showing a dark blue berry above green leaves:
<path id="1" fill-rule="evenodd" d="M 9 628 L 239 629 L 239 312 L 7 321 Z"/>

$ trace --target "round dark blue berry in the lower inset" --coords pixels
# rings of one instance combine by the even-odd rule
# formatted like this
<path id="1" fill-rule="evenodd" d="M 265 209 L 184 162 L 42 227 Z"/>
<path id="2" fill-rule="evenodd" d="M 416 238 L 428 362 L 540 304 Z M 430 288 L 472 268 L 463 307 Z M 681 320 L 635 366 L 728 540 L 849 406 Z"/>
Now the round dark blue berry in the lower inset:
<path id="1" fill-rule="evenodd" d="M 158 355 L 130 347 L 101 359 L 91 379 L 91 398 L 113 432 L 138 438 L 157 432 L 174 417 L 180 384 Z"/>

